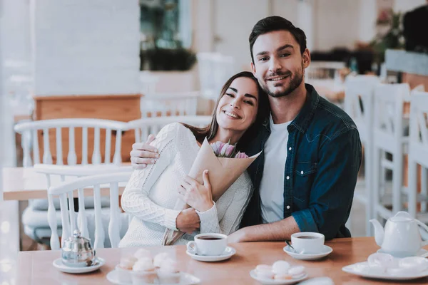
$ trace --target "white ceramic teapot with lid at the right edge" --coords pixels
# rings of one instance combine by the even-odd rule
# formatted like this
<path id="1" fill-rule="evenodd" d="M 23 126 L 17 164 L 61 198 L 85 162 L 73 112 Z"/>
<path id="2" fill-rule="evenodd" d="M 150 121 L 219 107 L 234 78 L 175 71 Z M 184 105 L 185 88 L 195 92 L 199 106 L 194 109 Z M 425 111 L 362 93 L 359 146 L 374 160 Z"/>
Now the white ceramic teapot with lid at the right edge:
<path id="1" fill-rule="evenodd" d="M 413 219 L 407 212 L 397 212 L 390 217 L 385 228 L 377 221 L 370 219 L 374 226 L 374 239 L 377 245 L 382 247 L 382 252 L 394 257 L 414 257 L 417 252 L 428 244 L 422 242 L 419 226 L 428 232 L 426 224 Z"/>

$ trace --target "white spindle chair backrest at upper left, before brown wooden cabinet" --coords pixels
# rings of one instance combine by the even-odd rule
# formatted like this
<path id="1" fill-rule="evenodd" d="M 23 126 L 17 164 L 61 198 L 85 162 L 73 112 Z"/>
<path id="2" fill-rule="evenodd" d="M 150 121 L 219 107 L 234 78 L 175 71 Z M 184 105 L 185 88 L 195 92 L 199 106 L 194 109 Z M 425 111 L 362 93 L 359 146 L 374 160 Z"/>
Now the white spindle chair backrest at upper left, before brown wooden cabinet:
<path id="1" fill-rule="evenodd" d="M 81 128 L 82 142 L 81 142 L 81 164 L 88 164 L 88 128 L 93 128 L 93 152 L 91 157 L 92 164 L 101 163 L 101 130 L 105 130 L 105 152 L 104 163 L 111 162 L 111 141 L 112 133 L 116 136 L 114 147 L 113 163 L 121 163 L 121 140 L 122 132 L 126 130 L 126 123 L 114 120 L 99 120 L 99 119 L 55 119 L 55 120 L 36 120 L 32 122 L 19 123 L 15 125 L 15 131 L 21 133 L 23 142 L 22 147 L 24 150 L 24 167 L 31 167 L 31 165 L 40 163 L 39 157 L 39 130 L 43 130 L 43 157 L 42 162 L 52 164 L 52 152 L 49 140 L 49 129 L 52 130 L 51 135 L 56 135 L 56 164 L 63 164 L 63 143 L 62 136 L 66 136 L 66 129 L 68 128 L 68 155 L 67 164 L 76 165 L 76 142 L 75 142 L 75 129 Z M 55 132 L 56 130 L 56 132 Z M 55 133 L 54 133 L 55 132 Z M 104 131 L 103 131 L 104 133 Z M 33 160 L 31 160 L 31 145 L 33 148 Z"/>

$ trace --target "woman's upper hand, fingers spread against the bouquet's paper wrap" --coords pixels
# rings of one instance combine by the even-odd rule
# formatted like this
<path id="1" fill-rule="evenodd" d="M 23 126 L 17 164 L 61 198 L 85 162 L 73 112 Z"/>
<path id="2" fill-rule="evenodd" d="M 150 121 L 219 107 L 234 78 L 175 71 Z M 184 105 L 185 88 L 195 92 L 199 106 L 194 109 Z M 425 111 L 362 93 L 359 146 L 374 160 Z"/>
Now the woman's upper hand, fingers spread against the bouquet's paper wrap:
<path id="1" fill-rule="evenodd" d="M 185 177 L 181 182 L 178 194 L 184 202 L 199 212 L 208 211 L 213 207 L 213 193 L 211 192 L 208 170 L 203 172 L 203 185 L 191 177 Z"/>

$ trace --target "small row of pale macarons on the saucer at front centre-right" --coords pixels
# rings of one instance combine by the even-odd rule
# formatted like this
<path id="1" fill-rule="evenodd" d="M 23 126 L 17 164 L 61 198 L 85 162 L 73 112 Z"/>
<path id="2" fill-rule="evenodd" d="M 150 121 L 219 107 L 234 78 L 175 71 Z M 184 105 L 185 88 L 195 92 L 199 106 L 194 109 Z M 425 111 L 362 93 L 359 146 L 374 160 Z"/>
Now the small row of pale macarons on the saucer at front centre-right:
<path id="1" fill-rule="evenodd" d="M 306 274 L 304 266 L 290 266 L 287 261 L 278 260 L 272 265 L 259 264 L 255 267 L 255 274 L 260 279 L 290 280 Z"/>

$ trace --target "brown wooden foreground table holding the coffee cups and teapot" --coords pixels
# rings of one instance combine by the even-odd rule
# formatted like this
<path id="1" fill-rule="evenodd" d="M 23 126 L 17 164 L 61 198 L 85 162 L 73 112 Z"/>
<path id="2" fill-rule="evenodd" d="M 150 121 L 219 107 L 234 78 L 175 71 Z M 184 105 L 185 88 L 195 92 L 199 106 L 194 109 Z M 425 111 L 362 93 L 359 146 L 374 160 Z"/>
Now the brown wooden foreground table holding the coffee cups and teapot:
<path id="1" fill-rule="evenodd" d="M 317 261 L 300 261 L 292 259 L 282 248 L 285 242 L 258 242 L 231 244 L 236 254 L 229 260 L 220 262 L 195 261 L 185 254 L 185 246 L 150 247 L 152 254 L 168 252 L 178 260 L 181 271 L 197 276 L 201 284 L 259 284 L 251 279 L 250 271 L 258 264 L 272 264 L 282 259 L 292 265 L 301 264 L 306 267 L 308 278 L 328 276 L 335 284 L 391 284 L 373 279 L 363 279 L 360 276 L 347 274 L 342 267 L 360 261 L 376 252 L 379 247 L 372 237 L 357 237 L 349 239 L 335 239 L 327 242 L 333 248 L 332 254 Z M 135 252 L 135 248 L 127 249 L 98 249 L 98 257 L 106 259 L 106 264 L 100 270 L 89 274 L 65 274 L 52 265 L 54 259 L 59 258 L 60 251 L 19 252 L 16 284 L 111 284 L 106 274 L 114 269 L 121 257 L 128 257 Z M 412 284 L 427 284 L 428 278 L 418 279 Z M 403 284 L 399 281 L 395 284 Z"/>

